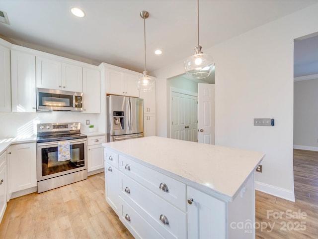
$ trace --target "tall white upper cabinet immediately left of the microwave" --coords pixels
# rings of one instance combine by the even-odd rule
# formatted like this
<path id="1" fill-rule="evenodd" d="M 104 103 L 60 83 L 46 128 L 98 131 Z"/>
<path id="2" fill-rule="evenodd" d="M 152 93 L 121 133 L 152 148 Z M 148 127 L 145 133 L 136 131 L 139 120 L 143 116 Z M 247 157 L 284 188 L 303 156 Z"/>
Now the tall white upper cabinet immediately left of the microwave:
<path id="1" fill-rule="evenodd" d="M 36 112 L 35 55 L 23 49 L 11 49 L 12 112 Z"/>

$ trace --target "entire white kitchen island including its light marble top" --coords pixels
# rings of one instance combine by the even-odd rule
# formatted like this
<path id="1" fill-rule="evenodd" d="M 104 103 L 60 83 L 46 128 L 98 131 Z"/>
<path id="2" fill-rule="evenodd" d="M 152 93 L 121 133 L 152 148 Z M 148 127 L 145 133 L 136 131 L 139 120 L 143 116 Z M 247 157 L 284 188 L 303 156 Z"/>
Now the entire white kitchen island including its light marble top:
<path id="1" fill-rule="evenodd" d="M 157 136 L 102 145 L 106 201 L 135 238 L 255 238 L 263 153 Z"/>

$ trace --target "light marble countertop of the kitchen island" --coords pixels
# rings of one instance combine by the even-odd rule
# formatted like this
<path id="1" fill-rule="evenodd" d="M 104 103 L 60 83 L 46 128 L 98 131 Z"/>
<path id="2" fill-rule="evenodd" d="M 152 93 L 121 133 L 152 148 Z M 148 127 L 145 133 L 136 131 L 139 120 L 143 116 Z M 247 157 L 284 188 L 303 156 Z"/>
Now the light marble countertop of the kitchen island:
<path id="1" fill-rule="evenodd" d="M 227 201 L 234 200 L 265 156 L 261 152 L 158 136 L 102 145 Z"/>

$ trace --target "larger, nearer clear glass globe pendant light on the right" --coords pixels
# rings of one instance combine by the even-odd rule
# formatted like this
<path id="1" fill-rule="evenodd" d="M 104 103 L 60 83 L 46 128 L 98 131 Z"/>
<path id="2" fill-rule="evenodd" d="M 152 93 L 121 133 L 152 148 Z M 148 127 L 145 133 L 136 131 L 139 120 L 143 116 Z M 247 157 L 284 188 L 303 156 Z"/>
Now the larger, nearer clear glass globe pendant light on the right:
<path id="1" fill-rule="evenodd" d="M 198 45 L 194 48 L 195 54 L 184 61 L 184 70 L 192 79 L 202 79 L 208 77 L 214 66 L 211 56 L 201 51 L 199 44 L 199 0 L 197 0 L 197 27 L 198 27 Z"/>

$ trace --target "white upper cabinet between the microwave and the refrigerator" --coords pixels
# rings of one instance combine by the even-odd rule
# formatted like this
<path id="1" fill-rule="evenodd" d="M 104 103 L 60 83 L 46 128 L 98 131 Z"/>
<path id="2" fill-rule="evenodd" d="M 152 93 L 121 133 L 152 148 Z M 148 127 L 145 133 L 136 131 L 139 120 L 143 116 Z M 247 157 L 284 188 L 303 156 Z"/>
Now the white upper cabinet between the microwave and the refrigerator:
<path id="1" fill-rule="evenodd" d="M 100 113 L 100 71 L 83 67 L 83 113 Z"/>

